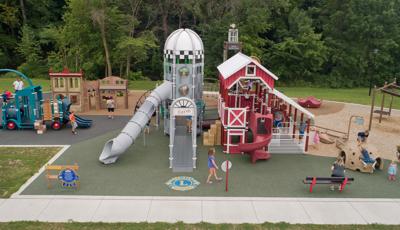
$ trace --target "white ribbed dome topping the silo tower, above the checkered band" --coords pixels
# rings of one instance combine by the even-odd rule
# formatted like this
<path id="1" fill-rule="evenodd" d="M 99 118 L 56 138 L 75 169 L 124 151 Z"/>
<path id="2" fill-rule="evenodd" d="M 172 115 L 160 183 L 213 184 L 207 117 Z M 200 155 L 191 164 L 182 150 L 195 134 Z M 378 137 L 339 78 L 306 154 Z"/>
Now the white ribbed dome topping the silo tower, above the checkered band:
<path id="1" fill-rule="evenodd" d="M 178 29 L 165 41 L 164 50 L 204 50 L 200 36 L 191 29 Z"/>

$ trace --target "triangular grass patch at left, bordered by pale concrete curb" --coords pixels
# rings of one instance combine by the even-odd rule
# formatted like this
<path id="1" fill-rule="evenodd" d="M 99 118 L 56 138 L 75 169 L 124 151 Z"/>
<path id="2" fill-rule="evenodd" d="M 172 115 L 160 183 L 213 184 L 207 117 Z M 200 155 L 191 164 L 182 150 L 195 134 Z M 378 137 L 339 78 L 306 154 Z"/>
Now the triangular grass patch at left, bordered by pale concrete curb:
<path id="1" fill-rule="evenodd" d="M 0 198 L 10 197 L 60 148 L 0 147 Z"/>

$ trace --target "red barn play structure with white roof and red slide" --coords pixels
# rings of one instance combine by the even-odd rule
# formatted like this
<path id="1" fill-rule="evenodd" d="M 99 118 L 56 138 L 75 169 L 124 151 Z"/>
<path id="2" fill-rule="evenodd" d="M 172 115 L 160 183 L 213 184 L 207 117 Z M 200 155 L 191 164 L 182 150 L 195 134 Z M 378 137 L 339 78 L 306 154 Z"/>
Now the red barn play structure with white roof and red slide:
<path id="1" fill-rule="evenodd" d="M 241 52 L 219 65 L 218 71 L 225 153 L 249 153 L 254 163 L 268 159 L 269 153 L 308 150 L 314 115 L 274 88 L 275 74 Z"/>

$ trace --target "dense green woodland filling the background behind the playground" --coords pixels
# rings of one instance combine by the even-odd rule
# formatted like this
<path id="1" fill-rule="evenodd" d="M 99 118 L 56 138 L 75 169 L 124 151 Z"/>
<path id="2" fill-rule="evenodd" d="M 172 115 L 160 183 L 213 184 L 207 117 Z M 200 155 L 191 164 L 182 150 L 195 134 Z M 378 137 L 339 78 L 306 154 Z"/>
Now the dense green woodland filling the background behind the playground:
<path id="1" fill-rule="evenodd" d="M 161 79 L 165 39 L 184 27 L 215 78 L 235 23 L 243 52 L 281 84 L 382 84 L 400 73 L 399 12 L 400 0 L 0 0 L 0 67 Z"/>

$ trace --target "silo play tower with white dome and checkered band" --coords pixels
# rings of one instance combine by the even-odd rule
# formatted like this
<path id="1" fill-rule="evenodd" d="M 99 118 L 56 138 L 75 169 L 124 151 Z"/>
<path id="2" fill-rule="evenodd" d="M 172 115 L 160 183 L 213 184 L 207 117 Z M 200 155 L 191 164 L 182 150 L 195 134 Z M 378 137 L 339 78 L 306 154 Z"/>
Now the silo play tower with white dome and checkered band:
<path id="1" fill-rule="evenodd" d="M 172 95 L 163 106 L 164 132 L 170 135 L 170 167 L 176 172 L 196 167 L 196 136 L 201 133 L 204 111 L 203 71 L 204 47 L 199 35 L 190 29 L 172 32 L 164 46 L 164 80 L 172 82 Z"/>

